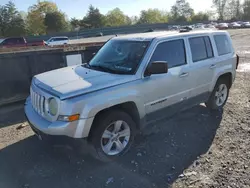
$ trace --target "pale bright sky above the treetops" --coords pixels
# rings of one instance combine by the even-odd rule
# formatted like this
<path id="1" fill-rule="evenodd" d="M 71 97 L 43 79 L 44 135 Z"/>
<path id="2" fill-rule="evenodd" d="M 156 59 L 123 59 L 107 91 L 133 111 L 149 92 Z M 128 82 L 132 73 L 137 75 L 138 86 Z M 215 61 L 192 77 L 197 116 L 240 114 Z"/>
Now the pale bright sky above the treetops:
<path id="1" fill-rule="evenodd" d="M 0 0 L 0 5 L 4 5 L 9 0 Z M 160 10 L 170 10 L 176 0 L 50 0 L 55 2 L 62 12 L 69 18 L 82 18 L 88 10 L 90 4 L 99 8 L 102 14 L 116 7 L 120 8 L 129 16 L 139 16 L 141 10 L 158 8 Z M 211 9 L 212 0 L 187 0 L 195 12 Z M 19 11 L 27 12 L 29 6 L 35 4 L 37 0 L 12 0 Z"/>

